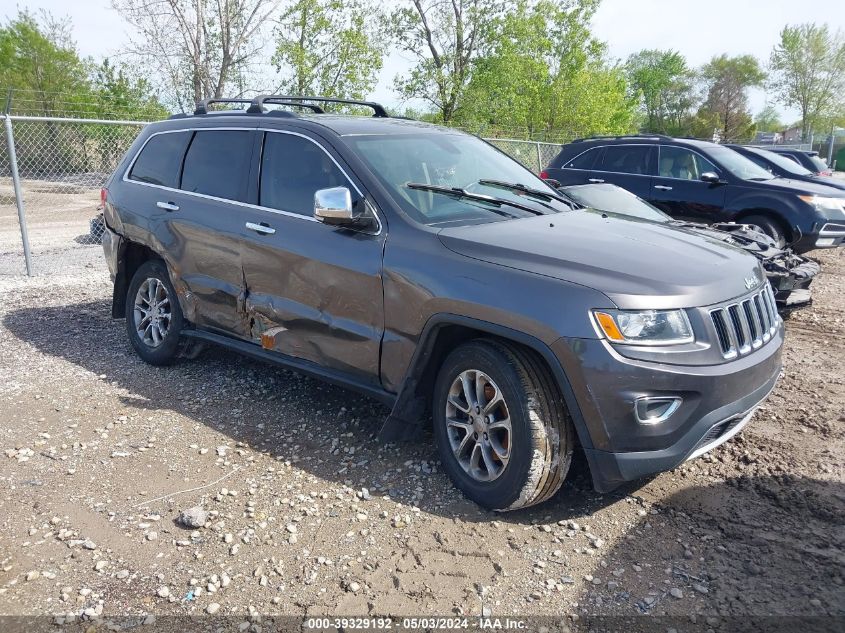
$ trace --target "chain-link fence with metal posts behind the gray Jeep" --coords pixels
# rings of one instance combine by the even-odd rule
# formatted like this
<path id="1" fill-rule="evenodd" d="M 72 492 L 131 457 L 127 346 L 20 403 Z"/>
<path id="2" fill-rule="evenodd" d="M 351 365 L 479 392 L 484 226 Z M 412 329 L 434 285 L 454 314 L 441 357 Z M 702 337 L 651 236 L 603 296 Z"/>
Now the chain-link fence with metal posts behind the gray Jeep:
<path id="1" fill-rule="evenodd" d="M 100 188 L 146 123 L 6 115 L 14 153 L 0 151 L 0 275 L 75 274 L 102 267 Z M 560 145 L 486 139 L 539 173 Z M 28 233 L 25 257 L 11 156 Z M 29 266 L 28 266 L 29 264 Z"/>

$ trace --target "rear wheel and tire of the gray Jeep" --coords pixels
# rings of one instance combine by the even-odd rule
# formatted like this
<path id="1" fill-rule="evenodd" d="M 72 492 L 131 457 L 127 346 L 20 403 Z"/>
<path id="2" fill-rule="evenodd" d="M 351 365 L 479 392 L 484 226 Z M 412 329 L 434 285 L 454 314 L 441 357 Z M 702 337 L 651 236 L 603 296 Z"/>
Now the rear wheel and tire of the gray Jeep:
<path id="1" fill-rule="evenodd" d="M 167 266 L 160 260 L 144 262 L 126 293 L 126 333 L 132 347 L 151 365 L 169 365 L 184 356 L 184 325 Z"/>

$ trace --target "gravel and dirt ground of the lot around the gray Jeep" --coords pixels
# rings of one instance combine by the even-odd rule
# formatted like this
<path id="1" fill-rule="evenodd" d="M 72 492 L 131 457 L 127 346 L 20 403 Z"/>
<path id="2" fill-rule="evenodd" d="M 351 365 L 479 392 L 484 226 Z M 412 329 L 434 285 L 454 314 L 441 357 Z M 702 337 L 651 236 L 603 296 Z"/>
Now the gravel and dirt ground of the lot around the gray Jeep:
<path id="1" fill-rule="evenodd" d="M 0 277 L 0 613 L 845 616 L 845 257 L 705 457 L 479 510 L 387 411 L 216 349 L 143 364 L 101 267 Z M 180 514 L 183 515 L 180 519 Z M 841 622 L 841 620 L 840 620 Z"/>

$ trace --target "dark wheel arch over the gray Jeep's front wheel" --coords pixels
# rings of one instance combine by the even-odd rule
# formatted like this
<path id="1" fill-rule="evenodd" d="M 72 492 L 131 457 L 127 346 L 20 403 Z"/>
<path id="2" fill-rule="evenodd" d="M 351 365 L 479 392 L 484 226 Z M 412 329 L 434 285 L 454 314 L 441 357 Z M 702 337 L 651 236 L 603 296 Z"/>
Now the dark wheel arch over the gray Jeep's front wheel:
<path id="1" fill-rule="evenodd" d="M 437 372 L 446 356 L 461 343 L 485 337 L 518 344 L 540 357 L 563 394 L 580 445 L 592 448 L 592 439 L 575 392 L 563 366 L 546 343 L 507 326 L 444 313 L 432 316 L 423 328 L 417 349 L 405 372 L 393 409 L 379 432 L 379 438 L 388 442 L 418 439 L 428 417 Z"/>

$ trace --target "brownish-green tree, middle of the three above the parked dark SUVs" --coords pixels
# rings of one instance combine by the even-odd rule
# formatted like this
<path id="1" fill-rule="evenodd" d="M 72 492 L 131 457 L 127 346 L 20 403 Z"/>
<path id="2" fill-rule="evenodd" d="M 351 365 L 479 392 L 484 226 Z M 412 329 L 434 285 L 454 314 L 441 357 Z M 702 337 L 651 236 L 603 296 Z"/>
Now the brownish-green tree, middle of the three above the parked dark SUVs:
<path id="1" fill-rule="evenodd" d="M 748 89 L 763 85 L 766 74 L 752 55 L 718 55 L 701 68 L 707 97 L 696 114 L 694 132 L 714 133 L 722 140 L 744 140 L 754 135 L 748 111 Z"/>

